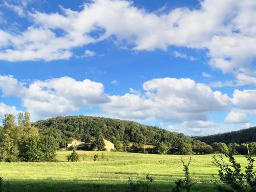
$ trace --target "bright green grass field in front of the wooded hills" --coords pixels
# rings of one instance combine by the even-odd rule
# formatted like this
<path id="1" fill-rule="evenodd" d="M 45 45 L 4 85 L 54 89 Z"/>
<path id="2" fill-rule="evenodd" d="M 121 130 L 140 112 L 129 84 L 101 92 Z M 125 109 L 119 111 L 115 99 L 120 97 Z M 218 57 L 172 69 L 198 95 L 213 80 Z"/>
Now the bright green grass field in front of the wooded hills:
<path id="1" fill-rule="evenodd" d="M 153 155 L 120 152 L 81 152 L 83 157 L 76 163 L 67 162 L 71 152 L 57 152 L 59 162 L 51 163 L 0 163 L 0 177 L 4 178 L 6 191 L 131 191 L 127 177 L 134 183 L 145 181 L 149 173 L 155 181 L 150 191 L 172 191 L 174 181 L 183 178 L 181 158 L 190 156 Z M 105 154 L 105 160 L 94 162 L 93 155 Z M 216 191 L 210 180 L 217 175 L 211 163 L 212 155 L 194 155 L 190 175 L 194 182 L 192 191 Z M 242 166 L 243 156 L 236 156 Z M 146 191 L 141 184 L 136 191 Z"/>

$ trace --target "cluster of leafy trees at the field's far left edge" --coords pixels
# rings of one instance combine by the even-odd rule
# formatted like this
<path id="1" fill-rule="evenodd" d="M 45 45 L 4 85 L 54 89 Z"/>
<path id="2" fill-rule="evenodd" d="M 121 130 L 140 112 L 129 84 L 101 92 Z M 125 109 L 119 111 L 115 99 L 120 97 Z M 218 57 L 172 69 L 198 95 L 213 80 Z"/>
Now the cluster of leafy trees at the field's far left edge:
<path id="1" fill-rule="evenodd" d="M 17 124 L 11 114 L 0 126 L 0 161 L 53 161 L 58 143 L 53 136 L 42 135 L 30 123 L 29 113 L 19 113 Z"/>

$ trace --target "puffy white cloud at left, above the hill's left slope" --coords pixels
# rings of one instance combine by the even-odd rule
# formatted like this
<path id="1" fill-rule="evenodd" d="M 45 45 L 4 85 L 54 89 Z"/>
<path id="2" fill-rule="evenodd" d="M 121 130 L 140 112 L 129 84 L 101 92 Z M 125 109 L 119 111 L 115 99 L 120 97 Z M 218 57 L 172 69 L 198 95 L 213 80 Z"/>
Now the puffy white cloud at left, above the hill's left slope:
<path id="1" fill-rule="evenodd" d="M 103 84 L 89 79 L 60 77 L 36 80 L 25 87 L 12 76 L 0 76 L 0 88 L 4 96 L 21 98 L 34 119 L 71 114 L 109 100 Z"/>

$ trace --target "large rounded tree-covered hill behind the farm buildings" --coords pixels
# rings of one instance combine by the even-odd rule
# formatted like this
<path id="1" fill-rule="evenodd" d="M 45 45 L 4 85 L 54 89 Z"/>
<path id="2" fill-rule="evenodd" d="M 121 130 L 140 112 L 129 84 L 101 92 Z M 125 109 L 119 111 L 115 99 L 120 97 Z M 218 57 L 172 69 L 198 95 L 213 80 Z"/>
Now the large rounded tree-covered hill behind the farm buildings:
<path id="1" fill-rule="evenodd" d="M 191 142 L 191 138 L 175 132 L 160 129 L 158 126 L 142 125 L 134 121 L 119 119 L 67 116 L 40 120 L 33 123 L 41 134 L 53 135 L 58 142 L 65 142 L 69 138 L 89 140 L 101 134 L 104 138 L 119 141 L 127 140 L 137 143 L 155 145 L 164 142 L 173 147 L 181 142 Z"/>

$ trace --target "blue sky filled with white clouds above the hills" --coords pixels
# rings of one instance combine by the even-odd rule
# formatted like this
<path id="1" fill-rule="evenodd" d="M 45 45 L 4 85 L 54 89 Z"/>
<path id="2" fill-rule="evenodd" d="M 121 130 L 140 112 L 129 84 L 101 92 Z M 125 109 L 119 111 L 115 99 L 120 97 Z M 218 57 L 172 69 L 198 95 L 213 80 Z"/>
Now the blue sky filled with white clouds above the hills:
<path id="1" fill-rule="evenodd" d="M 187 135 L 256 123 L 256 1 L 0 3 L 0 119 L 94 115 Z"/>

